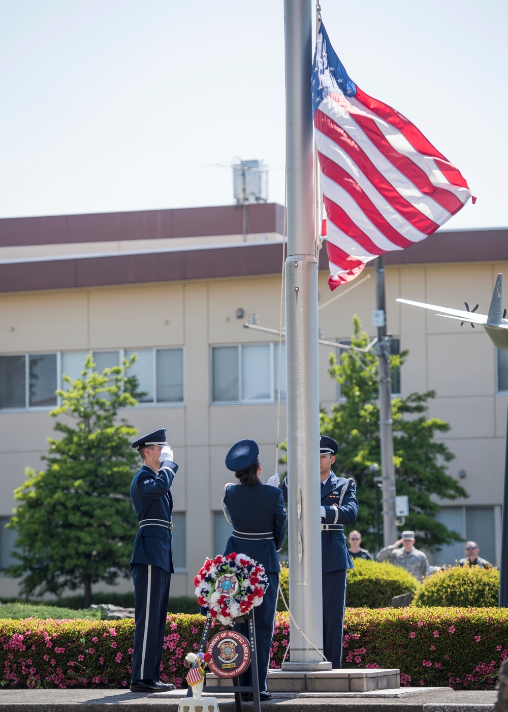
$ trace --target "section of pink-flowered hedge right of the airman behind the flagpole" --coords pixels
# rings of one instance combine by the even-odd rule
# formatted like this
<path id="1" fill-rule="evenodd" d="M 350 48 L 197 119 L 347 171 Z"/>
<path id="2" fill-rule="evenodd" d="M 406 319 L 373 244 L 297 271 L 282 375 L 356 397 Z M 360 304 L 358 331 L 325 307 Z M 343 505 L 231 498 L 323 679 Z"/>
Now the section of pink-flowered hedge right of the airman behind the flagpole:
<path id="1" fill-rule="evenodd" d="M 494 689 L 508 657 L 508 609 L 350 608 L 343 645 L 344 668 L 398 668 L 401 686 Z"/>

